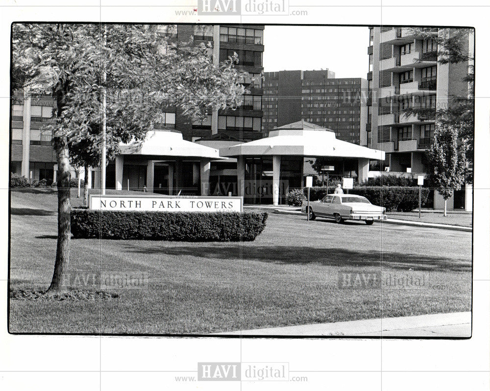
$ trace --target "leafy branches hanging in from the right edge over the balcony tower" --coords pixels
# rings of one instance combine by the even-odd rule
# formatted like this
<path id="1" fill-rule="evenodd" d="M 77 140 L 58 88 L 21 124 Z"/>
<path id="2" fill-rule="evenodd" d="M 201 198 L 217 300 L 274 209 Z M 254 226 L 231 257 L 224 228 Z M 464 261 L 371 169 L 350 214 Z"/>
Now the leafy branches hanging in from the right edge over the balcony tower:
<path id="1" fill-rule="evenodd" d="M 469 44 L 474 31 L 470 28 L 442 29 L 435 35 L 432 29 L 411 28 L 412 33 L 437 44 L 439 64 L 465 64 L 467 72 L 461 81 L 467 83 L 467 89 L 461 94 L 448 96 L 448 105 L 425 106 L 423 103 L 403 110 L 404 116 L 418 115 L 423 118 L 437 119 L 436 126 L 457 130 L 460 149 L 465 151 L 467 163 L 474 162 L 474 53 Z M 421 61 L 421 60 L 418 60 Z M 465 171 L 466 183 L 473 182 L 472 172 Z"/>

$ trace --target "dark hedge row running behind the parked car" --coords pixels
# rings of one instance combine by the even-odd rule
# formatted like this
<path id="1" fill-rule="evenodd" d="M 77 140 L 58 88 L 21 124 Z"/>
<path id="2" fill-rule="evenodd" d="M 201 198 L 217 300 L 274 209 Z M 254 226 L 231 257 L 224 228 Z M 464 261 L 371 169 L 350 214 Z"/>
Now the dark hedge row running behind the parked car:
<path id="1" fill-rule="evenodd" d="M 332 194 L 333 188 L 328 189 Z M 304 189 L 306 194 L 307 189 Z M 310 189 L 310 201 L 321 199 L 327 194 L 326 187 L 313 187 Z M 410 212 L 418 208 L 418 187 L 406 186 L 356 186 L 349 190 L 349 194 L 365 196 L 368 200 L 379 206 L 384 206 L 387 212 Z M 422 188 L 422 206 L 427 201 L 429 189 Z"/>

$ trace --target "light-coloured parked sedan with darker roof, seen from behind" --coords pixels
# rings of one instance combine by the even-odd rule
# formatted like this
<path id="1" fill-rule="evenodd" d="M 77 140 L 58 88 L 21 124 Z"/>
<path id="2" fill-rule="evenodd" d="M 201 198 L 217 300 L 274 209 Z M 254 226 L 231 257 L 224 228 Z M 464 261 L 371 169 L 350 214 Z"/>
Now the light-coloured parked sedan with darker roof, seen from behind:
<path id="1" fill-rule="evenodd" d="M 308 201 L 303 201 L 301 212 L 306 213 Z M 310 220 L 317 217 L 343 220 L 364 220 L 371 225 L 375 220 L 386 220 L 386 208 L 373 205 L 368 198 L 355 194 L 329 194 L 318 201 L 310 201 Z"/>

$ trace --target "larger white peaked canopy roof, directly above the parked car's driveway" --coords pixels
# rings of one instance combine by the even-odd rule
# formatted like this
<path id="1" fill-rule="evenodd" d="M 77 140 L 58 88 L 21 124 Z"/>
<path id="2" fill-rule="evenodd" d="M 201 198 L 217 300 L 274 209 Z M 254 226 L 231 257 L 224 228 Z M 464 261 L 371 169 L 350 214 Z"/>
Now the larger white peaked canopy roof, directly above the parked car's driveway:
<path id="1" fill-rule="evenodd" d="M 384 151 L 337 140 L 333 131 L 305 121 L 275 128 L 264 139 L 220 148 L 220 155 L 331 156 L 385 160 Z"/>

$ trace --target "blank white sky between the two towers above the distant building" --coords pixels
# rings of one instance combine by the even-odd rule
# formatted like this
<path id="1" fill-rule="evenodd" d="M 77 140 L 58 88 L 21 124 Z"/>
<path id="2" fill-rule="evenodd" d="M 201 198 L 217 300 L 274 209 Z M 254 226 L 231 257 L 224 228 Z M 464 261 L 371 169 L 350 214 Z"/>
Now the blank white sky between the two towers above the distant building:
<path id="1" fill-rule="evenodd" d="M 366 78 L 368 46 L 368 27 L 266 25 L 264 72 L 329 69 Z"/>

